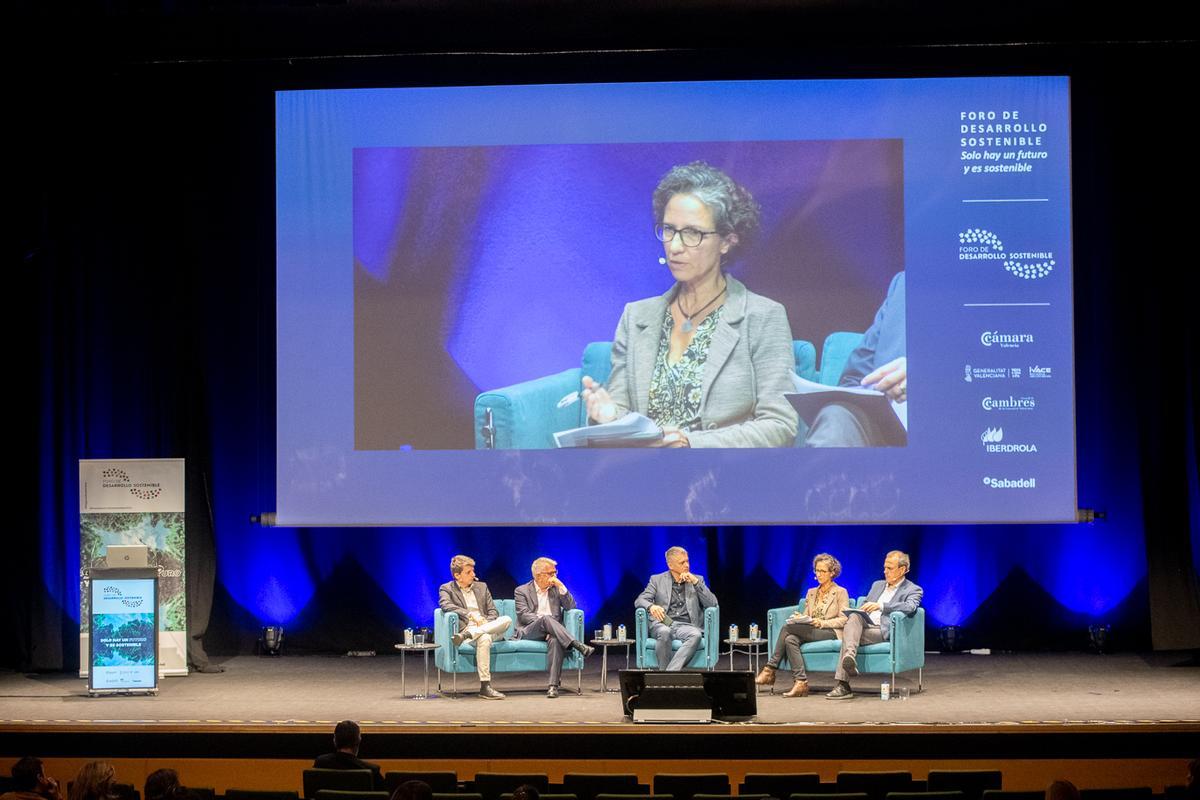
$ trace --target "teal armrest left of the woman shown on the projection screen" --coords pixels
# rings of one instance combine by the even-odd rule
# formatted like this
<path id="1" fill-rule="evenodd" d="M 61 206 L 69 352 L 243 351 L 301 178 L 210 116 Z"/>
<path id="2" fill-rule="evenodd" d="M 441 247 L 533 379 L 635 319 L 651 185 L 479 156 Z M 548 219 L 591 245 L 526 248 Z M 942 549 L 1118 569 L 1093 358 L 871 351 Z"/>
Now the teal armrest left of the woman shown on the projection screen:
<path id="1" fill-rule="evenodd" d="M 554 446 L 554 433 L 583 425 L 582 403 L 558 408 L 558 401 L 580 389 L 580 367 L 481 392 L 475 397 L 475 449 L 486 446 L 481 429 L 488 409 L 497 450 Z"/>

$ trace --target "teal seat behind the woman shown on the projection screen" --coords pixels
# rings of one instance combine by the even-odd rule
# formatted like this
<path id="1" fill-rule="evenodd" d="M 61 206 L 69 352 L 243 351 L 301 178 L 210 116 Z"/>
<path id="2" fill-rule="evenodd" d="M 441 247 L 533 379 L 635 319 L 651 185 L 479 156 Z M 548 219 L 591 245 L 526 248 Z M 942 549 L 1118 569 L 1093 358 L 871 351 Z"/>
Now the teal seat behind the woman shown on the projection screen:
<path id="1" fill-rule="evenodd" d="M 811 342 L 792 342 L 796 374 L 808 380 L 835 385 L 862 333 L 839 331 L 826 337 L 822 362 Z M 583 375 L 599 383 L 612 372 L 612 342 L 592 342 L 583 349 L 578 367 L 553 375 L 534 378 L 511 386 L 481 392 L 475 397 L 476 450 L 538 450 L 554 446 L 554 433 L 587 425 L 584 404 L 558 408 L 563 397 L 581 389 Z M 803 427 L 803 426 L 802 426 Z M 804 432 L 799 439 L 803 441 Z"/>

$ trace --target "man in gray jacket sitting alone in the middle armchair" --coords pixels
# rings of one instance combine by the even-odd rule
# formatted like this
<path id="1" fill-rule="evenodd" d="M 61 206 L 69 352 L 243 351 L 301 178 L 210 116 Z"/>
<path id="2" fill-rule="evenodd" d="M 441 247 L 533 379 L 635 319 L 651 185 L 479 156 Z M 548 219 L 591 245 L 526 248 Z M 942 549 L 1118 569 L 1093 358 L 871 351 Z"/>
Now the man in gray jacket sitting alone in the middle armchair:
<path id="1" fill-rule="evenodd" d="M 716 604 L 716 595 L 704 585 L 703 577 L 691 573 L 688 551 L 672 547 L 666 558 L 667 571 L 652 575 L 634 604 L 650 615 L 650 636 L 655 639 L 654 657 L 659 668 L 678 672 L 700 649 L 704 609 Z M 682 643 L 674 655 L 671 654 L 672 639 Z"/>

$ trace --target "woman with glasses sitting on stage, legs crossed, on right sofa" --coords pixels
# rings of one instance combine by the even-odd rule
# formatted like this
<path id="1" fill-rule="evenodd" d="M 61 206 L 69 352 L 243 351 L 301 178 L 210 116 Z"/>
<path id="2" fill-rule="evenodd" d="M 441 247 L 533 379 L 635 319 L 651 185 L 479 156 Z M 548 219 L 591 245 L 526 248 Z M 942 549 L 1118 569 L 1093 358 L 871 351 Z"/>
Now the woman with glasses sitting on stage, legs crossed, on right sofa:
<path id="1" fill-rule="evenodd" d="M 841 575 L 841 563 L 828 553 L 821 553 L 812 559 L 812 576 L 817 579 L 817 585 L 809 589 L 809 594 L 804 596 L 804 604 L 784 624 L 775 640 L 775 651 L 754 682 L 760 686 L 774 684 L 775 673 L 786 652 L 787 663 L 792 666 L 793 682 L 792 687 L 784 692 L 784 697 L 804 697 L 809 693 L 809 678 L 804 672 L 800 645 L 805 642 L 841 638 L 841 628 L 846 625 L 846 609 L 850 608 L 850 594 L 834 581 L 839 575 Z"/>

